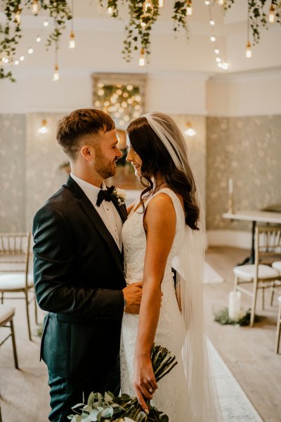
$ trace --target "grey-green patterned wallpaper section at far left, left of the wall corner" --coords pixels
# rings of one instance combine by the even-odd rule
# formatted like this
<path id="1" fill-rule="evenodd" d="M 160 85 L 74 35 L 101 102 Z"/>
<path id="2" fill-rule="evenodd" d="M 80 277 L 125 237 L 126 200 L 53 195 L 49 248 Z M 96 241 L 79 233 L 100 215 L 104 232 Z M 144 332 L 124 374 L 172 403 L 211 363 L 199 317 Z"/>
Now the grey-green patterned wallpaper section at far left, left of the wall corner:
<path id="1" fill-rule="evenodd" d="M 25 116 L 0 115 L 0 231 L 25 226 Z"/>

